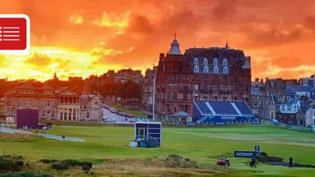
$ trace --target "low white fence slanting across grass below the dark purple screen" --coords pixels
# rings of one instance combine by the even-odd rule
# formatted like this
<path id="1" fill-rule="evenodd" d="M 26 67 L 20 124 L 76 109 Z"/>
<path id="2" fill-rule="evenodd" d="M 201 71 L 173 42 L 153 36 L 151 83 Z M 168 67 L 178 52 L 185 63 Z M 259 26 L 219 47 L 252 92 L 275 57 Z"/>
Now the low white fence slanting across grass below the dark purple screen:
<path id="1" fill-rule="evenodd" d="M 35 136 L 42 136 L 45 138 L 50 138 L 54 140 L 65 140 L 65 141 L 75 141 L 75 142 L 85 142 L 84 139 L 79 139 L 79 138 L 71 138 L 71 137 L 65 137 L 63 138 L 62 136 L 57 136 L 57 135 L 52 135 L 52 134 L 33 134 L 32 132 L 28 131 L 23 131 L 23 130 L 17 130 L 17 129 L 12 129 L 12 128 L 0 128 L 1 132 L 4 133 L 20 133 L 20 134 L 28 134 L 28 135 L 35 135 Z"/>

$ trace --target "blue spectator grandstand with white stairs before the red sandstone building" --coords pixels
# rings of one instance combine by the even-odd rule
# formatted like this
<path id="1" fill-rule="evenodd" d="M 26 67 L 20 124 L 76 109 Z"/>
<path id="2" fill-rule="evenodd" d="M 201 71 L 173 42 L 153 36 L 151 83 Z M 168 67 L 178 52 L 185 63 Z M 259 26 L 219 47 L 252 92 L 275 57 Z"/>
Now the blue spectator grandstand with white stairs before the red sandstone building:
<path id="1" fill-rule="evenodd" d="M 255 119 L 245 102 L 194 101 L 193 111 L 198 123 L 232 123 Z"/>

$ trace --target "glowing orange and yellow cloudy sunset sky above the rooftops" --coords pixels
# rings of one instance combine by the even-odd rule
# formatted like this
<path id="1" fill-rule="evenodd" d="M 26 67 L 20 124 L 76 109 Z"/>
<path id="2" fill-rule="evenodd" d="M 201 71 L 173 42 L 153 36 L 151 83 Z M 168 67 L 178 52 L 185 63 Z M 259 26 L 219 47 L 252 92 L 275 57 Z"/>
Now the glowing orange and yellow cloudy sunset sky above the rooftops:
<path id="1" fill-rule="evenodd" d="M 224 46 L 251 56 L 255 77 L 309 77 L 315 72 L 314 1 L 0 0 L 1 14 L 27 14 L 28 54 L 0 54 L 0 77 L 88 77 L 108 69 L 145 71 L 168 52 Z"/>

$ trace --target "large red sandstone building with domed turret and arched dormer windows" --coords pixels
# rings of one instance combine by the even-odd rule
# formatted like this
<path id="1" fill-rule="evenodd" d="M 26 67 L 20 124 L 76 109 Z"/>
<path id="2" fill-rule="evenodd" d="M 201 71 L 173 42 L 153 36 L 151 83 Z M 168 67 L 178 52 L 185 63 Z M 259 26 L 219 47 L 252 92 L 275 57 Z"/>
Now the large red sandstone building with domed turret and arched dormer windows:
<path id="1" fill-rule="evenodd" d="M 160 54 L 156 112 L 160 118 L 179 111 L 192 115 L 193 100 L 250 101 L 250 57 L 225 47 L 190 48 L 182 54 L 175 39 Z M 250 104 L 249 104 L 250 105 Z"/>

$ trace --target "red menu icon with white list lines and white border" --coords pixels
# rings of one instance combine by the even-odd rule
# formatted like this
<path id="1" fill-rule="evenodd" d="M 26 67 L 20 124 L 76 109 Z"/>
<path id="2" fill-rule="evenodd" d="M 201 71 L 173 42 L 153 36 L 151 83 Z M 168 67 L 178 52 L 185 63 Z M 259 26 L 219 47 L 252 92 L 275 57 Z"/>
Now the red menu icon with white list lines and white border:
<path id="1" fill-rule="evenodd" d="M 30 19 L 25 14 L 0 14 L 0 53 L 28 51 Z"/>

